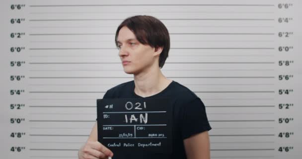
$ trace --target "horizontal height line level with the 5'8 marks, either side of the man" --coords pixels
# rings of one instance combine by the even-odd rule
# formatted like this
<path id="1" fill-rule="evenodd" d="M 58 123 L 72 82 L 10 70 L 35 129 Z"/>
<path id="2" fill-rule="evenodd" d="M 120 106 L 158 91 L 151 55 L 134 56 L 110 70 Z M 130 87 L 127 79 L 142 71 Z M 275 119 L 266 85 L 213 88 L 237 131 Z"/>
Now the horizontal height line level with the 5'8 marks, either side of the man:
<path id="1" fill-rule="evenodd" d="M 101 63 L 29 63 L 31 65 L 49 64 L 121 64 L 120 62 L 101 62 Z M 275 62 L 167 62 L 166 64 L 275 64 Z"/>

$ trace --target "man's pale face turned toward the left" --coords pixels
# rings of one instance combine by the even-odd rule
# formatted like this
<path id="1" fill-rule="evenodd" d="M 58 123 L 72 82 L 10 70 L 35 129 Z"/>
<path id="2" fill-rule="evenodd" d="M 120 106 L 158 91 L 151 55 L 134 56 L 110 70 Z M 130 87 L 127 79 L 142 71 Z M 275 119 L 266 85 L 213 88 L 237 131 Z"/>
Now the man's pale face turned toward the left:
<path id="1" fill-rule="evenodd" d="M 128 27 L 120 29 L 117 43 L 125 73 L 138 75 L 156 65 L 159 54 L 150 45 L 140 43 Z"/>

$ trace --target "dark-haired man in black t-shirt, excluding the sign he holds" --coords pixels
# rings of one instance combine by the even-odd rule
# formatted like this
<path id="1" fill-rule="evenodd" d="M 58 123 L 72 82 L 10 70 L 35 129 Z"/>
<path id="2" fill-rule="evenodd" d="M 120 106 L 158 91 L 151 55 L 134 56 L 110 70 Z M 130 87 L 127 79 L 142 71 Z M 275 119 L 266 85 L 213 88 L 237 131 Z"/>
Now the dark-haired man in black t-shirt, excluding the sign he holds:
<path id="1" fill-rule="evenodd" d="M 103 98 L 168 97 L 173 104 L 172 154 L 125 154 L 126 159 L 210 159 L 208 131 L 212 128 L 201 99 L 190 89 L 167 79 L 160 71 L 170 48 L 167 28 L 152 16 L 133 16 L 118 27 L 115 43 L 124 72 L 134 80 L 109 89 Z M 97 123 L 79 159 L 107 159 L 114 156 L 97 141 Z"/>

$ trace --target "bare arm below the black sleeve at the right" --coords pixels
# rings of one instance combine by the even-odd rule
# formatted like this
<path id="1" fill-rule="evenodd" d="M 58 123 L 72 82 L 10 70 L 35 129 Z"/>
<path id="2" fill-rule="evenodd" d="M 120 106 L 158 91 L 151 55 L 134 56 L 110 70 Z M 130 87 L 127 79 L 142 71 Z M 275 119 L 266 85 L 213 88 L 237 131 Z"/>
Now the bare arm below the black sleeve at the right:
<path id="1" fill-rule="evenodd" d="M 208 131 L 183 140 L 188 159 L 210 159 L 210 139 Z"/>

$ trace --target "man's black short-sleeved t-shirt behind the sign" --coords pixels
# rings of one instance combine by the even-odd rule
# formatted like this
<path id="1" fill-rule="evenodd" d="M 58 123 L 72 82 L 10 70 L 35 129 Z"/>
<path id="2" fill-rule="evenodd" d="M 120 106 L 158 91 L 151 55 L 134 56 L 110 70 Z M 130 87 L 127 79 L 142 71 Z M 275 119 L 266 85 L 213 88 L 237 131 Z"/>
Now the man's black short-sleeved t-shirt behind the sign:
<path id="1" fill-rule="evenodd" d="M 143 98 L 134 92 L 134 80 L 107 90 L 103 98 Z M 189 88 L 172 81 L 164 90 L 146 98 L 170 98 L 173 104 L 172 154 L 122 154 L 113 152 L 112 159 L 186 159 L 183 140 L 211 130 L 201 99 Z"/>

